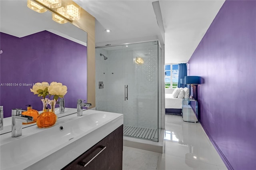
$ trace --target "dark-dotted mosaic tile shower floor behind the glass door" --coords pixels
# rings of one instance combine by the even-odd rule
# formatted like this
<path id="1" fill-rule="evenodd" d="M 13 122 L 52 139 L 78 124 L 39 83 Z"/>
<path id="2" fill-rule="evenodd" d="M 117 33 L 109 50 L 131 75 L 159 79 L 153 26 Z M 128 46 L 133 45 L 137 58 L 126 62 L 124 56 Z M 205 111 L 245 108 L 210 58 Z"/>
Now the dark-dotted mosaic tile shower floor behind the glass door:
<path id="1" fill-rule="evenodd" d="M 124 136 L 153 140 L 156 129 L 124 126 Z"/>

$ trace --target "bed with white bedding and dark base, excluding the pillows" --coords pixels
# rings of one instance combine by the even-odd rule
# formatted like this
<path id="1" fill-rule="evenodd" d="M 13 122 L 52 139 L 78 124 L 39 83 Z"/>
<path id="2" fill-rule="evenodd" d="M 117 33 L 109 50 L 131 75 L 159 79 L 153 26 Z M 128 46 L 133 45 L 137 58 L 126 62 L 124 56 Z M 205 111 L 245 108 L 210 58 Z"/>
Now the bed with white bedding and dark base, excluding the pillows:
<path id="1" fill-rule="evenodd" d="M 182 114 L 182 99 L 172 97 L 172 94 L 165 94 L 165 113 Z"/>

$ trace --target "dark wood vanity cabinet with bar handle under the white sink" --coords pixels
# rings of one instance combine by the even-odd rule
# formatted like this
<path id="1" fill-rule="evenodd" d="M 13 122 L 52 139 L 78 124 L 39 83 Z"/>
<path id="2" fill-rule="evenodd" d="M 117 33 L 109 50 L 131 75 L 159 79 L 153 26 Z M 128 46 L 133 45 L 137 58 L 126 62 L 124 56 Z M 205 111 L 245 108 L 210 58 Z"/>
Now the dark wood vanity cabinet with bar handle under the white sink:
<path id="1" fill-rule="evenodd" d="M 62 168 L 62 170 L 122 170 L 122 152 L 123 125 Z M 94 159 L 92 160 L 92 158 Z M 92 161 L 90 162 L 90 160 Z M 84 167 L 84 165 L 86 166 Z"/>

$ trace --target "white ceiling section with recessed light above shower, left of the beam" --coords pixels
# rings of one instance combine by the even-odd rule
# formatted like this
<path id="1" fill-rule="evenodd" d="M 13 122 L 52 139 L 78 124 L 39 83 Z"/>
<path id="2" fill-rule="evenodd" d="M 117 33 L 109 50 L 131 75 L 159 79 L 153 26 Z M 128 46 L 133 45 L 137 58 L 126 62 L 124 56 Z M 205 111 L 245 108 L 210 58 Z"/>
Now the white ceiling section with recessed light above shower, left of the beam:
<path id="1" fill-rule="evenodd" d="M 152 0 L 74 1 L 96 18 L 96 46 L 157 39 Z"/>

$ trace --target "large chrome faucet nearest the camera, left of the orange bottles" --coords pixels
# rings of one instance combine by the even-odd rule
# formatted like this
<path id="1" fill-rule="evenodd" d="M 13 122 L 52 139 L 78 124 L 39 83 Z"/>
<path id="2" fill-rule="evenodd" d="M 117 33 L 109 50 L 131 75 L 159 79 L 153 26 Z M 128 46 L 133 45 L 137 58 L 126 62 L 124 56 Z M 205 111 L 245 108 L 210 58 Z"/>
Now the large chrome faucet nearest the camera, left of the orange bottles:
<path id="1" fill-rule="evenodd" d="M 22 122 L 30 123 L 33 121 L 32 116 L 22 115 L 21 109 L 12 109 L 12 137 L 22 135 Z"/>

